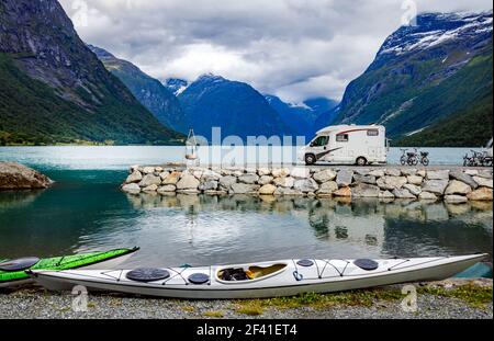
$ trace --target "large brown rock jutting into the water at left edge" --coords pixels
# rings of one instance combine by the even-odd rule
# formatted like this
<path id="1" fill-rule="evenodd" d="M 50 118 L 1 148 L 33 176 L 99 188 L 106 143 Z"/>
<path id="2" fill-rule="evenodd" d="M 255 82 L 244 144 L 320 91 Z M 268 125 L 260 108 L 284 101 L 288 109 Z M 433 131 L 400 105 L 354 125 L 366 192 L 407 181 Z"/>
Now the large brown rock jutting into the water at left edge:
<path id="1" fill-rule="evenodd" d="M 46 175 L 15 162 L 0 162 L 0 191 L 41 190 L 54 182 Z"/>

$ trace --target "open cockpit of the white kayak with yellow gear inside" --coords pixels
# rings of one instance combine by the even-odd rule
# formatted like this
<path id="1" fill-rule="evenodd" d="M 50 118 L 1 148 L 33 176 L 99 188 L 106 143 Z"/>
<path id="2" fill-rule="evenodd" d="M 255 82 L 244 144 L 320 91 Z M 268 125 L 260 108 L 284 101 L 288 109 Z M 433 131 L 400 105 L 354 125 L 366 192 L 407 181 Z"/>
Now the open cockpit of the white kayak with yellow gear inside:
<path id="1" fill-rule="evenodd" d="M 222 283 L 251 282 L 276 276 L 282 273 L 288 264 L 276 263 L 272 265 L 245 265 L 236 268 L 224 268 L 216 272 L 216 280 Z"/>

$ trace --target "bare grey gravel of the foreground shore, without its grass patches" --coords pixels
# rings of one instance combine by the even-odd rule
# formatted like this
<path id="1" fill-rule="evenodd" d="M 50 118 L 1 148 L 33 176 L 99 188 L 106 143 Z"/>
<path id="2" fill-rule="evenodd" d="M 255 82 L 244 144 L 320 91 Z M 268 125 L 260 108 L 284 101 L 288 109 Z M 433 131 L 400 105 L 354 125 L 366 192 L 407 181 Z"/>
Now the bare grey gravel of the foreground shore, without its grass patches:
<path id="1" fill-rule="evenodd" d="M 448 282 L 450 283 L 450 282 Z M 467 284 L 465 284 L 467 283 Z M 470 283 L 470 284 L 469 284 Z M 479 281 L 476 281 L 479 283 Z M 470 285 L 461 282 L 459 286 Z M 479 284 L 475 284 L 479 285 Z M 492 292 L 492 280 L 481 286 Z M 451 287 L 440 284 L 441 288 Z M 390 286 L 380 291 L 401 291 Z M 361 292 L 364 293 L 364 292 Z M 280 307 L 269 305 L 261 311 L 242 309 L 245 302 L 176 300 L 126 297 L 113 294 L 90 294 L 87 311 L 72 310 L 75 295 L 25 288 L 0 293 L 0 319 L 191 319 L 191 318 L 261 318 L 261 319 L 492 319 L 491 302 L 475 305 L 458 297 L 418 293 L 415 312 L 402 309 L 402 297 L 374 299 L 370 305 L 338 304 L 334 306 Z M 403 296 L 405 297 L 405 296 Z M 257 303 L 252 300 L 250 303 Z"/>

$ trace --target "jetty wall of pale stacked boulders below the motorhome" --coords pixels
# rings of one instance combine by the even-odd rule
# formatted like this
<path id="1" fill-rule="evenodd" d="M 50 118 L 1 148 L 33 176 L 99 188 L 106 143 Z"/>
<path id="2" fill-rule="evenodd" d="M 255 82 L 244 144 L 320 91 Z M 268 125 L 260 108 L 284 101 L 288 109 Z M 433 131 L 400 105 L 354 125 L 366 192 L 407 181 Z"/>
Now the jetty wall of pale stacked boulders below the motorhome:
<path id="1" fill-rule="evenodd" d="M 493 200 L 492 169 L 215 168 L 134 166 L 130 194 L 271 195 L 420 200 L 449 204 Z"/>

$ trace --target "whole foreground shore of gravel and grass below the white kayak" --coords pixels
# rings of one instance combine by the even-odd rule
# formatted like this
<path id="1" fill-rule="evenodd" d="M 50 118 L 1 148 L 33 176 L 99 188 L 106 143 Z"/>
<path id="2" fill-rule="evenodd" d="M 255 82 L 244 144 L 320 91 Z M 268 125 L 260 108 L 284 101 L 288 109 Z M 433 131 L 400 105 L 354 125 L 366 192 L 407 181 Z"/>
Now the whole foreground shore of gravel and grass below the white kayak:
<path id="1" fill-rule="evenodd" d="M 0 292 L 0 319 L 492 319 L 492 280 L 415 284 L 416 311 L 402 308 L 402 285 L 327 295 L 248 300 L 179 300 L 89 294 L 87 311 L 75 295 L 26 288 Z"/>

